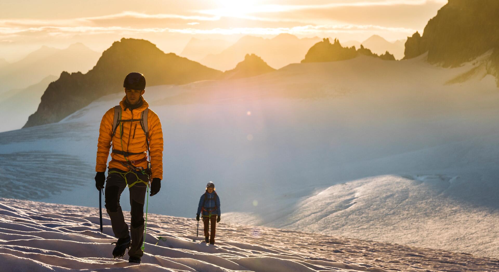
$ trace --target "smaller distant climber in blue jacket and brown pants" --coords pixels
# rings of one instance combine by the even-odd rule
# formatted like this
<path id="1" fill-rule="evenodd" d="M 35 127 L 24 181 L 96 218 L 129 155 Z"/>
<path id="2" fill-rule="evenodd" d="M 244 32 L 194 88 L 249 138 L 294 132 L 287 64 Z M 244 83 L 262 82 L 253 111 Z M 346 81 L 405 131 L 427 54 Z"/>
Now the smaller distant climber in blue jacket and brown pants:
<path id="1" fill-rule="evenodd" d="M 211 181 L 206 185 L 206 191 L 199 199 L 198 213 L 196 215 L 197 221 L 199 221 L 200 215 L 203 216 L 206 244 L 215 245 L 216 224 L 220 222 L 220 198 L 215 192 L 215 184 Z M 211 235 L 208 232 L 210 222 L 212 223 Z"/>

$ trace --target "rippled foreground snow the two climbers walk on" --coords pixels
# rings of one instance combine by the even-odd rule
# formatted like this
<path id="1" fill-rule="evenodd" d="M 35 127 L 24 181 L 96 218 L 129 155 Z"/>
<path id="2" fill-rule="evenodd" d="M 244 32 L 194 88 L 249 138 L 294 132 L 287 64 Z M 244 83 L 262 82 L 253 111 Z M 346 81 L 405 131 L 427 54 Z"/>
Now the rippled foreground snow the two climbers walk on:
<path id="1" fill-rule="evenodd" d="M 129 217 L 127 217 L 129 220 Z M 150 214 L 141 265 L 112 259 L 109 219 L 98 209 L 0 199 L 1 271 L 498 271 L 499 260 L 294 231 L 225 224 L 215 246 L 196 221 Z"/>

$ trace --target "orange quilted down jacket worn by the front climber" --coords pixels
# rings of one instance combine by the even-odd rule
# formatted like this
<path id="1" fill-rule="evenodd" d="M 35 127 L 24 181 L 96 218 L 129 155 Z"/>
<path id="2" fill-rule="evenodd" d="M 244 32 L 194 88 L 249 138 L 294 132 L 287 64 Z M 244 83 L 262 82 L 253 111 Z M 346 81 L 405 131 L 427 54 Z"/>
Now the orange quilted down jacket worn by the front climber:
<path id="1" fill-rule="evenodd" d="M 142 98 L 142 106 L 134 110 L 126 109 L 123 104 L 126 96 L 121 100 L 121 119 L 140 119 L 140 114 L 143 110 L 149 107 L 149 104 Z M 133 116 L 132 116 L 133 114 Z M 111 143 L 113 149 L 126 151 L 130 153 L 144 152 L 143 154 L 130 155 L 128 160 L 140 160 L 146 157 L 147 144 L 146 135 L 140 125 L 140 121 L 122 122 L 123 131 L 121 131 L 121 124 L 117 127 L 114 137 L 111 139 L 113 132 L 113 118 L 114 108 L 109 109 L 100 122 L 99 129 L 99 142 L 97 143 L 97 160 L 95 171 L 105 172 L 107 166 L 107 157 Z M 145 118 L 145 117 L 144 117 Z M 163 179 L 163 131 L 161 130 L 161 122 L 158 115 L 149 109 L 147 116 L 147 125 L 149 127 L 149 150 L 153 178 Z M 123 132 L 123 133 L 121 133 Z M 123 134 L 123 136 L 121 136 Z M 127 171 L 127 167 L 123 166 L 118 161 L 126 161 L 125 157 L 120 154 L 111 153 L 112 160 L 109 162 L 109 168 L 118 168 Z M 147 168 L 147 161 L 134 164 L 136 167 Z"/>

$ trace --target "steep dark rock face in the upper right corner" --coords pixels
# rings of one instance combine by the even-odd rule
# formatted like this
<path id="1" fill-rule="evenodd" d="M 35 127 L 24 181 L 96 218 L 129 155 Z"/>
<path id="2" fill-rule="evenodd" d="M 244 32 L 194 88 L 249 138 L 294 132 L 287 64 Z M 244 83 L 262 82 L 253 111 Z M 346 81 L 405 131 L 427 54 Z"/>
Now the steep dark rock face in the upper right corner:
<path id="1" fill-rule="evenodd" d="M 408 37 L 405 59 L 428 52 L 430 63 L 457 66 L 499 47 L 499 1 L 449 0 L 423 36 Z"/>

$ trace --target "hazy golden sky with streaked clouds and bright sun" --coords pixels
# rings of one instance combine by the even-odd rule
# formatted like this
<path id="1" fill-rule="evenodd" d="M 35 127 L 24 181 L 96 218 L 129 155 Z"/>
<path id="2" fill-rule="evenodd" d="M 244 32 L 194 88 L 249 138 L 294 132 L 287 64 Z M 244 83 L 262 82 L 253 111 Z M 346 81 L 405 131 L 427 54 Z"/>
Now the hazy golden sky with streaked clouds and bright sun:
<path id="1" fill-rule="evenodd" d="M 165 52 L 187 42 L 244 35 L 387 40 L 422 32 L 447 0 L 16 0 L 0 8 L 0 58 L 16 61 L 42 45 L 81 42 L 103 51 L 122 37 Z"/>

